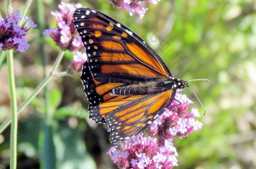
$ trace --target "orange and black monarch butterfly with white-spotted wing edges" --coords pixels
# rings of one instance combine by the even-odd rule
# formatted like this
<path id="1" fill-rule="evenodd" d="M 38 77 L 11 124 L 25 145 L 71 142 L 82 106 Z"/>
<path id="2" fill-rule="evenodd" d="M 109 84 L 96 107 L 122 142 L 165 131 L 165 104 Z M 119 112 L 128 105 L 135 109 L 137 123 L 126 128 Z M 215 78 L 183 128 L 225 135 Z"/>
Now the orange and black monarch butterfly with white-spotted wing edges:
<path id="1" fill-rule="evenodd" d="M 88 56 L 81 81 L 89 118 L 108 125 L 112 144 L 141 133 L 170 105 L 177 89 L 188 87 L 125 25 L 90 8 L 77 8 L 73 20 Z"/>

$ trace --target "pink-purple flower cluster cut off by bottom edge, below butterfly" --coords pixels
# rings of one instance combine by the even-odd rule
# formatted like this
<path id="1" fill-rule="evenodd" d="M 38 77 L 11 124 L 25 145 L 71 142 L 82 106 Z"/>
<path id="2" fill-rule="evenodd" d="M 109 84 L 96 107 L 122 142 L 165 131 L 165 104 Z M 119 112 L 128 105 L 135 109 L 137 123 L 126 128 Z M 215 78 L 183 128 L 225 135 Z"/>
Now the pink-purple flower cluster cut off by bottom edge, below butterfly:
<path id="1" fill-rule="evenodd" d="M 172 139 L 159 144 L 156 138 L 139 134 L 120 146 L 122 151 L 113 146 L 107 153 L 120 169 L 171 169 L 178 165 Z"/>

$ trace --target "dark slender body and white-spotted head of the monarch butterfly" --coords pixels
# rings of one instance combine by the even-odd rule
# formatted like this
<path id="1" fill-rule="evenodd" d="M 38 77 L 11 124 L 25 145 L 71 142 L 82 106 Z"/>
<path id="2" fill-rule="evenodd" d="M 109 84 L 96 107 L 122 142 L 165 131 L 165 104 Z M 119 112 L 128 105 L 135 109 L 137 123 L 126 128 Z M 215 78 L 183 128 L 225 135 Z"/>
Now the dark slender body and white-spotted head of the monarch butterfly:
<path id="1" fill-rule="evenodd" d="M 113 96 L 133 96 L 133 95 L 144 95 L 144 94 L 157 94 L 169 90 L 183 89 L 188 87 L 188 82 L 175 79 L 157 79 L 149 82 L 124 85 L 117 88 L 113 88 L 110 92 Z"/>

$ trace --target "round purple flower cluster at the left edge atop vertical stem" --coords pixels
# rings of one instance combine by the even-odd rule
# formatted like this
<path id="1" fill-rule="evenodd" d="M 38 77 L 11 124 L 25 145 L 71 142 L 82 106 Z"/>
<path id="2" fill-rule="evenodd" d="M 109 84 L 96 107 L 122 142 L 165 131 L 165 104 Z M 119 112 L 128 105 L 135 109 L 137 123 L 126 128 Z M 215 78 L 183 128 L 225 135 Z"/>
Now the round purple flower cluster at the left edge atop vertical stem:
<path id="1" fill-rule="evenodd" d="M 8 9 L 8 16 L 0 19 L 0 50 L 16 50 L 24 52 L 29 48 L 29 44 L 25 38 L 26 33 L 37 25 L 26 18 L 25 22 L 19 26 L 18 22 L 21 20 L 21 15 L 14 12 L 12 15 L 13 8 Z M 27 28 L 25 25 L 29 23 Z"/>

